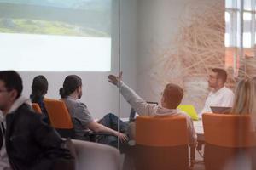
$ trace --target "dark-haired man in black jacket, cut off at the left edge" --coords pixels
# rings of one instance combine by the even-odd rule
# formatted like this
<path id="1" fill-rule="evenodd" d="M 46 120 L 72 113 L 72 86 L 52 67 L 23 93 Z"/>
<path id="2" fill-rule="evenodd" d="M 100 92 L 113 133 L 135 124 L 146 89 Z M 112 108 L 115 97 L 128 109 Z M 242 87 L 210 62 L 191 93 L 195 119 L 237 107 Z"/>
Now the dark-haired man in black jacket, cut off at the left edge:
<path id="1" fill-rule="evenodd" d="M 63 141 L 53 127 L 32 111 L 29 99 L 21 95 L 22 79 L 15 71 L 0 71 L 0 169 L 56 169 L 54 150 L 61 155 Z M 65 157 L 64 157 L 65 156 Z"/>

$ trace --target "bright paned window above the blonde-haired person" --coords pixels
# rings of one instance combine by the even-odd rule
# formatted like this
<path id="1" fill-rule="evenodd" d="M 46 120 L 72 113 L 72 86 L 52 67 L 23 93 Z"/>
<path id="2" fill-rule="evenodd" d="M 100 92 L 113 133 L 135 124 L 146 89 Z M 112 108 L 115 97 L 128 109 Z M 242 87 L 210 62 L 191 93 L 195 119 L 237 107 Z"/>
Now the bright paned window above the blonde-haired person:
<path id="1" fill-rule="evenodd" d="M 255 59 L 255 4 L 256 0 L 225 1 L 226 66 L 233 67 L 235 76 L 245 72 L 247 62 Z"/>

